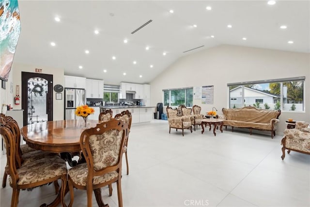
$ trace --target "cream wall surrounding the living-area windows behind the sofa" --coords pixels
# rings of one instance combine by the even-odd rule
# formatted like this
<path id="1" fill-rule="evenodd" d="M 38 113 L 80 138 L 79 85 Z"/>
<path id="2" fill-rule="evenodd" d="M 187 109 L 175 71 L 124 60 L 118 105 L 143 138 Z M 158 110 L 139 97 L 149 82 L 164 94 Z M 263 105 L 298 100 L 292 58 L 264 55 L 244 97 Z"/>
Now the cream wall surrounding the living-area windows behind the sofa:
<path id="1" fill-rule="evenodd" d="M 177 60 L 151 82 L 151 105 L 163 102 L 163 89 L 214 85 L 214 104 L 193 104 L 202 112 L 228 108 L 227 83 L 269 80 L 305 76 L 305 112 L 281 112 L 279 132 L 286 128 L 285 120 L 310 121 L 310 54 L 280 50 L 222 45 L 187 55 Z M 165 111 L 165 109 L 164 109 Z M 279 134 L 279 133 L 278 133 Z"/>

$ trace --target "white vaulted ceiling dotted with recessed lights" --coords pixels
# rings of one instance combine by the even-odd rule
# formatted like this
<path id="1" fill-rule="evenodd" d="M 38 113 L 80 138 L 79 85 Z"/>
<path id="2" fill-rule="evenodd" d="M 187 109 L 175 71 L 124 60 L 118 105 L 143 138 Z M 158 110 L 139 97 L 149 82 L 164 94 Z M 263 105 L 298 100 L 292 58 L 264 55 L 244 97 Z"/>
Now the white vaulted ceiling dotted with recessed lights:
<path id="1" fill-rule="evenodd" d="M 177 59 L 223 44 L 310 52 L 309 0 L 18 2 L 14 62 L 109 84 L 149 83 Z"/>

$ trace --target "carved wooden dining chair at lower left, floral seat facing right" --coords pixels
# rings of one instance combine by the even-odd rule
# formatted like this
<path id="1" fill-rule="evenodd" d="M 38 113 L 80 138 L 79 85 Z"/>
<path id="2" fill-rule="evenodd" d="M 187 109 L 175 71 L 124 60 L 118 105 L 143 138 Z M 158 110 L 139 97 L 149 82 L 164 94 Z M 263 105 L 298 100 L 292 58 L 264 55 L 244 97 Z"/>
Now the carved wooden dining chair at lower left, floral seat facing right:
<path id="1" fill-rule="evenodd" d="M 58 191 L 62 206 L 66 206 L 63 197 L 67 181 L 67 166 L 63 159 L 54 156 L 32 161 L 19 166 L 16 162 L 16 141 L 10 128 L 0 126 L 0 134 L 5 142 L 7 166 L 6 173 L 10 175 L 12 187 L 11 207 L 17 207 L 19 191 L 33 189 L 50 182 L 62 180 L 62 186 Z"/>

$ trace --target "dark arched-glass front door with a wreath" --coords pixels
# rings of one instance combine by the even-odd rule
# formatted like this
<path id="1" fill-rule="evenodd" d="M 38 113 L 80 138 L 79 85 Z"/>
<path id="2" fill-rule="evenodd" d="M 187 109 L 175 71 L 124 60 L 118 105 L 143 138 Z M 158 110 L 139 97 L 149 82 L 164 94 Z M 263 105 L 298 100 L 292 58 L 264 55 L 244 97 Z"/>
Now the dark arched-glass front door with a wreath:
<path id="1" fill-rule="evenodd" d="M 21 72 L 24 126 L 53 120 L 53 75 Z"/>

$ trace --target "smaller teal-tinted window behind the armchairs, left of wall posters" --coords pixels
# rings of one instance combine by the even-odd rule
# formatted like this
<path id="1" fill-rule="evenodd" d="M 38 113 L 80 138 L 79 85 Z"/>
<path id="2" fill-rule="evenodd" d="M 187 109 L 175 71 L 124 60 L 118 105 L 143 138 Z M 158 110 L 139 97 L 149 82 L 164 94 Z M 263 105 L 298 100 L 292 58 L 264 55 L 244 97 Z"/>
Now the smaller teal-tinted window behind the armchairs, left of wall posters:
<path id="1" fill-rule="evenodd" d="M 168 89 L 164 92 L 164 106 L 193 106 L 193 88 Z"/>

